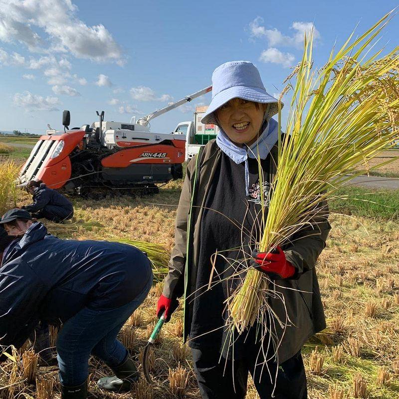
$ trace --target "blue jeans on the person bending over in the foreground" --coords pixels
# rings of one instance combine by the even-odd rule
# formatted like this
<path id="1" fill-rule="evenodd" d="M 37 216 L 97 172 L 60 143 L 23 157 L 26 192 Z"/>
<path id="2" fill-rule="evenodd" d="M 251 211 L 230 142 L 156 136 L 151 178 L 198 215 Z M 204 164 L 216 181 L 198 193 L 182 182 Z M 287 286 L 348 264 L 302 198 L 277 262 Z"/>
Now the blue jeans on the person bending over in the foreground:
<path id="1" fill-rule="evenodd" d="M 152 280 L 151 275 L 141 294 L 126 305 L 111 310 L 83 308 L 65 322 L 56 344 L 59 380 L 63 386 L 74 387 L 86 381 L 90 354 L 110 367 L 125 360 L 128 351 L 116 337 L 147 297 Z"/>

